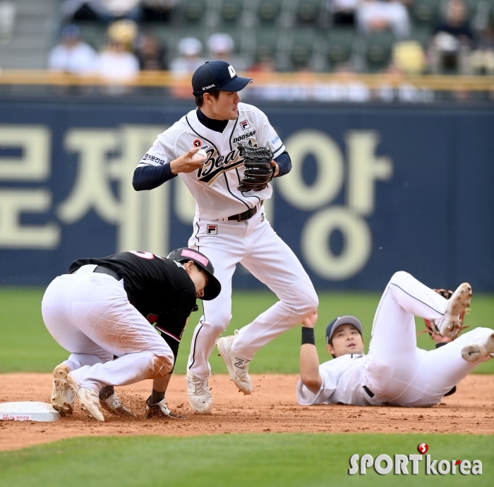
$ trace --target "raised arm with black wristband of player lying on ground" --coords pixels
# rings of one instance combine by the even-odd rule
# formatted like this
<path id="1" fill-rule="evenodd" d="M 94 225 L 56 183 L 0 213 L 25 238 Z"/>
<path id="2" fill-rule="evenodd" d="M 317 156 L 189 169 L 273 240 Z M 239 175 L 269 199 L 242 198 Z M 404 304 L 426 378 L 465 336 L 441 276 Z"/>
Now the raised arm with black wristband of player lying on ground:
<path id="1" fill-rule="evenodd" d="M 313 393 L 317 393 L 323 384 L 323 378 L 319 374 L 318 350 L 314 342 L 316 321 L 318 321 L 317 310 L 302 321 L 302 345 L 300 347 L 300 380 Z"/>

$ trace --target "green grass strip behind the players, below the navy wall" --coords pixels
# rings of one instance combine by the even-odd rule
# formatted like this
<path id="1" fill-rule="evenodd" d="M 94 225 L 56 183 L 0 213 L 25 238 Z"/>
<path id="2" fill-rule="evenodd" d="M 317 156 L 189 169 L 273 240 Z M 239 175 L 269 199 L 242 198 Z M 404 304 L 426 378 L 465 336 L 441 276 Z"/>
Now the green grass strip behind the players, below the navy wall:
<path id="1" fill-rule="evenodd" d="M 40 312 L 43 290 L 39 288 L 0 288 L 0 373 L 13 371 L 52 371 L 56 364 L 66 359 L 63 350 L 44 328 Z M 329 356 L 325 352 L 325 326 L 335 316 L 354 314 L 364 325 L 364 340 L 368 345 L 370 329 L 379 293 L 320 292 L 320 321 L 315 331 L 320 360 Z M 276 302 L 271 292 L 234 292 L 233 319 L 227 329 L 233 333 L 246 325 L 267 307 Z M 494 295 L 475 295 L 471 314 L 466 323 L 493 327 Z M 183 334 L 176 372 L 185 373 L 186 361 L 195 323 L 200 312 L 193 313 Z M 422 320 L 416 320 L 418 330 L 423 329 Z M 469 328 L 469 329 L 471 329 Z M 294 328 L 273 340 L 260 350 L 251 363 L 252 372 L 296 373 L 299 368 L 300 329 Z M 430 350 L 432 340 L 428 335 L 418 336 L 418 346 Z M 226 373 L 222 359 L 212 353 L 210 363 L 213 373 Z M 494 360 L 478 366 L 476 371 L 494 374 Z"/>

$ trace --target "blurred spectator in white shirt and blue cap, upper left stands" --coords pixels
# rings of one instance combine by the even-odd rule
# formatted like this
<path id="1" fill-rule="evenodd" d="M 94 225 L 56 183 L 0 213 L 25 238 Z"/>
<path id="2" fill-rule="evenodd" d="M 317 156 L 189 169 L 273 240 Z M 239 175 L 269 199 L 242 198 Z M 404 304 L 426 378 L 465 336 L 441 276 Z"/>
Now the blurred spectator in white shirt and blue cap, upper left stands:
<path id="1" fill-rule="evenodd" d="M 96 51 L 80 40 L 77 25 L 66 25 L 61 33 L 60 44 L 49 54 L 48 68 L 75 75 L 90 75 L 95 70 L 96 60 Z"/>

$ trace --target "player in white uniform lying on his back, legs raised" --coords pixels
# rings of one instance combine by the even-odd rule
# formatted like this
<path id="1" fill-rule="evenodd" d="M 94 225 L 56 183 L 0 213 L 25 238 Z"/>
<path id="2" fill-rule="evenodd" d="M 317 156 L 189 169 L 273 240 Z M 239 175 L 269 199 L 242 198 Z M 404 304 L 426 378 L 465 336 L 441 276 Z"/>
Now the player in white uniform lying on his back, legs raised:
<path id="1" fill-rule="evenodd" d="M 460 315 L 470 300 L 467 283 L 445 300 L 409 273 L 397 272 L 375 313 L 368 355 L 363 355 L 360 321 L 342 316 L 327 327 L 327 351 L 335 359 L 321 365 L 313 333 L 317 313 L 313 314 L 302 323 L 299 404 L 437 404 L 480 362 L 494 356 L 490 328 L 475 328 L 456 338 L 462 329 Z M 436 350 L 417 348 L 414 316 L 431 321 L 435 333 L 452 341 Z"/>

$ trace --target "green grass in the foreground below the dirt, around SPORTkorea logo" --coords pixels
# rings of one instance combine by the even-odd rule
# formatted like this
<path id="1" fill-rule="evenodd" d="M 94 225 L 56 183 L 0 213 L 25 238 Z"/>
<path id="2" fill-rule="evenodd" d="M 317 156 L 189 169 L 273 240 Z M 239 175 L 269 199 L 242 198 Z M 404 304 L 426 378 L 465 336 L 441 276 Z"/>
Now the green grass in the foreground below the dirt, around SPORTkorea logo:
<path id="1" fill-rule="evenodd" d="M 481 460 L 482 475 L 349 476 L 354 453 Z M 0 486 L 491 486 L 494 437 L 265 433 L 195 437 L 73 438 L 0 453 Z"/>

